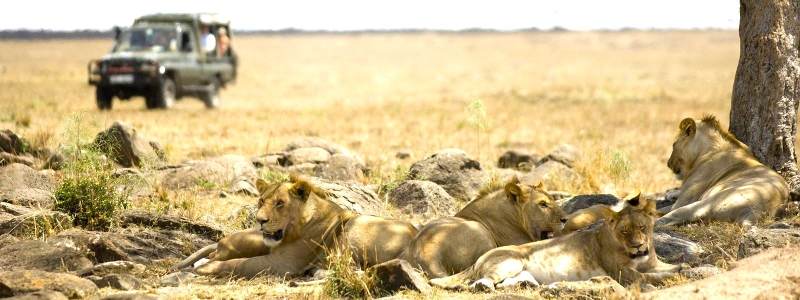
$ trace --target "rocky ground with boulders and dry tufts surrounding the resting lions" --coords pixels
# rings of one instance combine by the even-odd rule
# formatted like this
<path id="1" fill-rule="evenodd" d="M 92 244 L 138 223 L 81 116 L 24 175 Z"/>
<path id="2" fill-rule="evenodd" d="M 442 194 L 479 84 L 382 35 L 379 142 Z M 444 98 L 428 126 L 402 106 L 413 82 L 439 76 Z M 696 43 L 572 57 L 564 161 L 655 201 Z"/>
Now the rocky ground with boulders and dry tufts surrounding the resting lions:
<path id="1" fill-rule="evenodd" d="M 101 155 L 93 157 L 93 151 Z M 404 151 L 397 156 L 410 159 Z M 108 167 L 77 167 L 89 164 L 89 157 Z M 463 150 L 445 149 L 413 162 L 397 180 L 364 184 L 374 176 L 364 158 L 322 138 L 297 138 L 282 151 L 252 158 L 229 154 L 173 163 L 158 142 L 122 121 L 71 150 L 31 149 L 25 138 L 2 130 L 0 298 L 335 298 L 342 291 L 330 283 L 291 284 L 308 278 L 199 278 L 167 269 L 194 250 L 250 226 L 256 178 L 277 182 L 290 173 L 314 176 L 329 198 L 347 210 L 422 225 L 454 214 L 487 182 L 513 176 L 522 182 L 545 182 L 567 214 L 617 202 L 610 194 L 571 194 L 598 184 L 578 166 L 581 159 L 581 150 L 565 144 L 546 155 L 510 150 L 494 167 L 482 166 Z M 124 198 L 122 206 L 103 206 L 114 212 L 110 226 L 82 222 L 82 214 L 97 213 L 78 215 L 59 204 L 74 192 L 65 182 L 94 178 L 91 172 L 107 172 L 100 178 L 114 184 L 110 194 Z M 651 196 L 662 207 L 674 201 L 673 195 L 665 191 Z M 662 260 L 691 266 L 665 286 L 619 286 L 606 277 L 515 293 L 530 298 L 798 298 L 800 222 L 793 213 L 758 228 L 659 228 L 655 242 Z M 375 266 L 368 273 L 382 279 L 370 289 L 376 297 L 516 297 L 435 290 L 402 261 Z"/>

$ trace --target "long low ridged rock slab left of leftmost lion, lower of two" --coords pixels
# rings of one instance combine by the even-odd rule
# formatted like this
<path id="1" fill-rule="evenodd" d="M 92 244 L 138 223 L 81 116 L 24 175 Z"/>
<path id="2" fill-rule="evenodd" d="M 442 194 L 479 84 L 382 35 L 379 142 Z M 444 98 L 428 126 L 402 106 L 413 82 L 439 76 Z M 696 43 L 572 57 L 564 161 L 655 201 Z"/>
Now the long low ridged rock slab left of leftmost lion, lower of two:
<path id="1" fill-rule="evenodd" d="M 212 243 L 198 235 L 176 230 L 135 228 L 126 229 L 124 233 L 71 229 L 51 237 L 48 242 L 55 246 L 85 250 L 97 262 L 132 261 L 144 264 L 160 259 L 183 259 Z"/>

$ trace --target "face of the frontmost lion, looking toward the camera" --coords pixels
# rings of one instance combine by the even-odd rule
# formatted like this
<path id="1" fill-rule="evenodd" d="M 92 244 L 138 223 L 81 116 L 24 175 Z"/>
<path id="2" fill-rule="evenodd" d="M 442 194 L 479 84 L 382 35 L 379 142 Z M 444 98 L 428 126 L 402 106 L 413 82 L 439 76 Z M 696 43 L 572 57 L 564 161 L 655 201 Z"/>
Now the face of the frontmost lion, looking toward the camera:
<path id="1" fill-rule="evenodd" d="M 647 258 L 656 216 L 655 202 L 639 200 L 638 194 L 626 201 L 627 206 L 611 218 L 611 231 L 630 258 Z"/>

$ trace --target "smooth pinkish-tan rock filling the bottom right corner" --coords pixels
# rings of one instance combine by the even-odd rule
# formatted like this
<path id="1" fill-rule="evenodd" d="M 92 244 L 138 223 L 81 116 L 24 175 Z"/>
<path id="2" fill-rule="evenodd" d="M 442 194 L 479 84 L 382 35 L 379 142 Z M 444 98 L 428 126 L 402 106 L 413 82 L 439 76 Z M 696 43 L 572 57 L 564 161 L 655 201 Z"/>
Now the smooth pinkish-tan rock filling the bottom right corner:
<path id="1" fill-rule="evenodd" d="M 770 249 L 696 282 L 642 294 L 642 299 L 797 299 L 800 245 Z"/>

